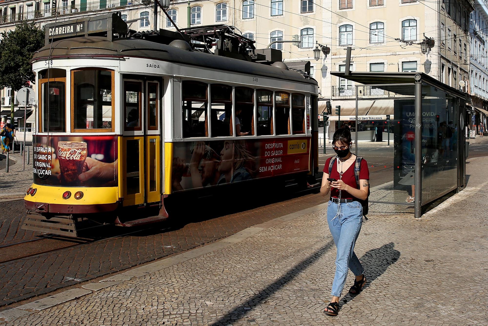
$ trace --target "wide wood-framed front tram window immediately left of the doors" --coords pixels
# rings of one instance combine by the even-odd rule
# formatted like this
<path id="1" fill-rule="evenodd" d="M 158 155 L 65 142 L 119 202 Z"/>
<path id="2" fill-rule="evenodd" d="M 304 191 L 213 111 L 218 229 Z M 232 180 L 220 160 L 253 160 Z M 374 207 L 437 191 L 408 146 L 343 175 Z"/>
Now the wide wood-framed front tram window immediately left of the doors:
<path id="1" fill-rule="evenodd" d="M 73 70 L 71 80 L 73 129 L 112 131 L 114 72 Z"/>

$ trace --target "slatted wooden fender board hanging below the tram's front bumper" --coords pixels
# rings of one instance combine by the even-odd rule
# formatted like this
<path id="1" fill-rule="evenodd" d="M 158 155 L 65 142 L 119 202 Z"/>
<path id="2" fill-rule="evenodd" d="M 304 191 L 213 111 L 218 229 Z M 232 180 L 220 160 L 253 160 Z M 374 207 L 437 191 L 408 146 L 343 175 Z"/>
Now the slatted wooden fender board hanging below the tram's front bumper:
<path id="1" fill-rule="evenodd" d="M 71 215 L 45 217 L 41 214 L 29 213 L 25 217 L 21 229 L 67 237 L 78 237 L 75 221 Z"/>

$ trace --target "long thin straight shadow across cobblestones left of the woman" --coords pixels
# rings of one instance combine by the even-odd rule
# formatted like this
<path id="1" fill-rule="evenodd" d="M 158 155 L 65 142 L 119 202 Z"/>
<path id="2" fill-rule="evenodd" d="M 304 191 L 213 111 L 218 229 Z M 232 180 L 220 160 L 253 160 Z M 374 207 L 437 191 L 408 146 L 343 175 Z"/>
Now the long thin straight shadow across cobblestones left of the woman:
<path id="1" fill-rule="evenodd" d="M 327 251 L 334 247 L 334 241 L 330 240 L 324 246 L 317 249 L 313 254 L 300 261 L 295 266 L 291 267 L 284 276 L 276 280 L 275 282 L 267 285 L 264 289 L 259 291 L 251 298 L 247 299 L 244 304 L 240 304 L 232 311 L 229 311 L 226 315 L 222 316 L 218 321 L 212 323 L 212 326 L 228 325 L 230 322 L 235 323 L 237 320 L 243 317 L 244 314 L 249 312 L 255 306 L 266 301 L 267 298 L 272 296 L 278 290 L 280 290 L 285 284 L 293 281 L 300 273 L 305 271 L 305 269 L 317 261 L 321 256 L 323 256 Z M 247 309 L 246 309 L 247 308 Z"/>

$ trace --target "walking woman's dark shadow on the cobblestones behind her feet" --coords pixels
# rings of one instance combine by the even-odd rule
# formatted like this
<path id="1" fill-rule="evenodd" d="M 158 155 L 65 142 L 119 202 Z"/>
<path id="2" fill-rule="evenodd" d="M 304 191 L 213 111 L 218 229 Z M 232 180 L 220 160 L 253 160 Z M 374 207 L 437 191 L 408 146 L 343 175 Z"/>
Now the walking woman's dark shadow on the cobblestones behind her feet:
<path id="1" fill-rule="evenodd" d="M 400 251 L 394 249 L 395 244 L 393 242 L 386 243 L 379 248 L 371 249 L 366 252 L 359 259 L 361 264 L 365 269 L 365 276 L 367 279 L 366 285 L 363 290 L 367 289 L 369 285 L 376 280 L 380 275 L 386 272 L 386 269 L 394 264 L 400 258 Z M 347 290 L 348 291 L 348 290 Z M 351 294 L 347 292 L 347 294 L 341 299 L 341 306 L 356 296 L 358 296 L 361 292 L 357 294 Z"/>

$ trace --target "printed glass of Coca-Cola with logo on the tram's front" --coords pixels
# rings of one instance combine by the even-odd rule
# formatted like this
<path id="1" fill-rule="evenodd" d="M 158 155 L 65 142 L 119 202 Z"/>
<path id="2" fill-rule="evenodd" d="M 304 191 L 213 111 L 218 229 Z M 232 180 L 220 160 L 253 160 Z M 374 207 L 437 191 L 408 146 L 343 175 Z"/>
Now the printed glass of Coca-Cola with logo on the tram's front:
<path id="1" fill-rule="evenodd" d="M 58 161 L 61 170 L 61 184 L 79 186 L 78 176 L 83 172 L 86 159 L 86 143 L 74 141 L 58 142 Z"/>

